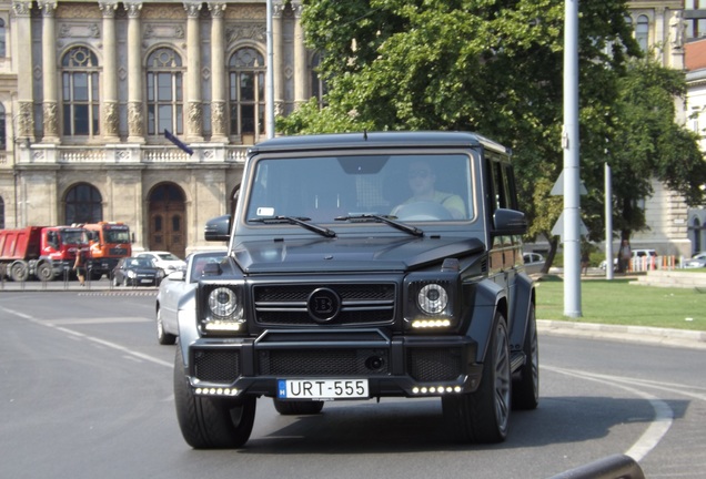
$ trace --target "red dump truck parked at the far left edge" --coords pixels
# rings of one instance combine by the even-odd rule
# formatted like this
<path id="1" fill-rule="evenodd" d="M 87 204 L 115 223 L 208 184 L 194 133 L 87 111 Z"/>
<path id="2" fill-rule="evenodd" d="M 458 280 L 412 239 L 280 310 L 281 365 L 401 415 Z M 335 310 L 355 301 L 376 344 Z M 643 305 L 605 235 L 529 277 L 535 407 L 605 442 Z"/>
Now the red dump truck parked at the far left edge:
<path id="1" fill-rule="evenodd" d="M 52 281 L 73 267 L 88 233 L 75 226 L 27 226 L 0 230 L 0 275 L 12 281 Z"/>

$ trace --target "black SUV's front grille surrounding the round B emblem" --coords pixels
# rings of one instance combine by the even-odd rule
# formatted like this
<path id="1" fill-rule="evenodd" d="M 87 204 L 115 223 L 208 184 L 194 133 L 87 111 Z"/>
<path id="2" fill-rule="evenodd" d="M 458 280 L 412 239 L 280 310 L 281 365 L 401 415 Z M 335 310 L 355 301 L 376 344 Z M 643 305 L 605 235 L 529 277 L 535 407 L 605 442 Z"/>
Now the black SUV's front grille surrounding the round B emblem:
<path id="1" fill-rule="evenodd" d="M 262 326 L 313 326 L 309 298 L 325 287 L 340 298 L 340 312 L 327 325 L 390 325 L 395 317 L 395 284 L 255 285 L 255 322 Z"/>

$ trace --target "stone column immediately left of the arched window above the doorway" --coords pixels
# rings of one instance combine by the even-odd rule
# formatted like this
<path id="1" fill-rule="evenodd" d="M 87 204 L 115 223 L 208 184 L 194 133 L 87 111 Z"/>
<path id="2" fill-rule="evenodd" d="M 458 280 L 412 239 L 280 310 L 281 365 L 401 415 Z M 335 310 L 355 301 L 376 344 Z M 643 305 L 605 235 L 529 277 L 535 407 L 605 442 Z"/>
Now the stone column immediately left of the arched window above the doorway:
<path id="1" fill-rule="evenodd" d="M 142 105 L 142 41 L 140 10 L 142 3 L 123 3 L 128 10 L 128 141 L 144 143 Z"/>

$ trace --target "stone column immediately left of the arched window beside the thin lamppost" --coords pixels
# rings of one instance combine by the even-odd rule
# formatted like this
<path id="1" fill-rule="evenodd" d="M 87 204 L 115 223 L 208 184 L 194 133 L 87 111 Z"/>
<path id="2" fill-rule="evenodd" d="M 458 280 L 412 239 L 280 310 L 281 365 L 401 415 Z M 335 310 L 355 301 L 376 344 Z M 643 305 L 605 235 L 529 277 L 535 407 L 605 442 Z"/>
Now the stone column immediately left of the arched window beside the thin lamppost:
<path id="1" fill-rule="evenodd" d="M 225 126 L 225 3 L 209 3 L 211 10 L 211 141 L 228 142 Z"/>

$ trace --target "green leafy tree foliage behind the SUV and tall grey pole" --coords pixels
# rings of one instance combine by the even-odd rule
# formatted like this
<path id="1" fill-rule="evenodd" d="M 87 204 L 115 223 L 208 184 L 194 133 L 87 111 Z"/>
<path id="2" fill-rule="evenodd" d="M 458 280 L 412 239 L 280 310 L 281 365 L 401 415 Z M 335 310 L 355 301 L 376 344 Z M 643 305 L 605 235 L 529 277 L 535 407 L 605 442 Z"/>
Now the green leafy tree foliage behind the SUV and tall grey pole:
<path id="1" fill-rule="evenodd" d="M 304 0 L 309 47 L 324 57 L 327 106 L 278 120 L 283 133 L 361 130 L 477 131 L 515 152 L 531 235 L 549 231 L 562 198 L 564 0 Z M 704 177 L 694 136 L 674 123 L 683 74 L 642 53 L 625 0 L 579 3 L 579 135 L 584 222 L 603 236 L 603 171 L 616 186 L 616 228 L 655 175 L 692 203 Z M 682 77 L 679 77 L 682 75 Z M 679 82 L 679 79 L 680 82 Z M 668 105 L 672 105 L 669 109 Z M 645 180 L 643 182 L 643 180 Z M 699 194 L 700 193 L 700 194 Z"/>

